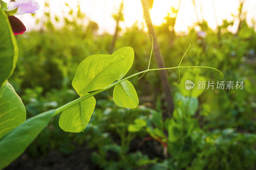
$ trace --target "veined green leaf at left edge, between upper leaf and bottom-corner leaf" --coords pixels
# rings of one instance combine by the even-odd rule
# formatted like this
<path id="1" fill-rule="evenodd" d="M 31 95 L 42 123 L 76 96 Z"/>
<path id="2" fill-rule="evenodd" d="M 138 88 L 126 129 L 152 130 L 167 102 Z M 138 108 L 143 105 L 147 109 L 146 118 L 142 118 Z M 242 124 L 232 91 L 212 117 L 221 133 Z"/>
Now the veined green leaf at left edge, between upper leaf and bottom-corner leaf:
<path id="1" fill-rule="evenodd" d="M 8 82 L 0 88 L 0 137 L 25 122 L 26 109 Z"/>

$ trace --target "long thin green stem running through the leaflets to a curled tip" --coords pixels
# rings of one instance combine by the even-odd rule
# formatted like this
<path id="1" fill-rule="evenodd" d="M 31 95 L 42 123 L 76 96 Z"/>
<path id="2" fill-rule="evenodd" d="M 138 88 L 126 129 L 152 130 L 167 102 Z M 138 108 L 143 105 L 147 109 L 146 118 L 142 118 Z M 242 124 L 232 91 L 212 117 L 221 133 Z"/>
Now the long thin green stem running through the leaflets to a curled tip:
<path id="1" fill-rule="evenodd" d="M 126 78 L 123 78 L 123 79 L 121 79 L 121 80 L 119 80 L 119 81 L 117 81 L 117 82 L 115 82 L 115 83 L 109 85 L 108 87 L 105 87 L 105 88 L 96 90 L 96 91 L 94 91 L 94 92 L 92 92 L 92 93 L 90 93 L 90 94 L 88 94 L 88 95 L 86 95 L 86 96 L 83 96 L 83 97 L 81 96 L 81 97 L 79 97 L 78 99 L 73 100 L 73 101 L 71 101 L 71 102 L 69 102 L 69 103 L 67 103 L 67 104 L 65 104 L 65 105 L 63 105 L 63 106 L 57 108 L 57 109 L 55 110 L 55 114 L 54 114 L 53 116 L 58 115 L 59 113 L 61 113 L 62 111 L 68 109 L 69 107 L 75 105 L 76 103 L 79 103 L 79 102 L 81 102 L 81 101 L 83 101 L 83 100 L 85 100 L 85 99 L 88 99 L 89 97 L 92 97 L 92 96 L 94 96 L 94 95 L 96 95 L 96 94 L 99 94 L 100 92 L 103 92 L 103 91 L 105 91 L 105 90 L 108 90 L 109 88 L 114 87 L 115 85 L 117 85 L 117 84 L 123 82 L 124 80 L 127 80 L 127 79 L 129 79 L 129 78 L 132 78 L 132 77 L 134 77 L 134 76 L 137 76 L 137 75 L 139 75 L 139 74 L 141 74 L 141 73 L 145 73 L 145 72 L 148 72 L 148 71 L 155 71 L 155 70 L 169 70 L 169 69 L 177 69 L 177 68 L 209 68 L 209 69 L 213 69 L 213 70 L 216 70 L 216 71 L 220 72 L 221 75 L 222 75 L 222 78 L 224 77 L 224 75 L 222 74 L 222 72 L 221 72 L 220 70 L 217 70 L 217 69 L 212 68 L 212 67 L 206 67 L 206 66 L 182 66 L 182 67 L 178 66 L 178 67 L 161 68 L 161 69 L 148 69 L 148 70 L 144 70 L 144 71 L 135 73 L 135 74 L 133 74 L 133 75 L 131 75 L 131 76 L 128 76 L 128 77 L 126 77 Z M 221 79 L 222 79 L 222 78 L 221 78 Z"/>

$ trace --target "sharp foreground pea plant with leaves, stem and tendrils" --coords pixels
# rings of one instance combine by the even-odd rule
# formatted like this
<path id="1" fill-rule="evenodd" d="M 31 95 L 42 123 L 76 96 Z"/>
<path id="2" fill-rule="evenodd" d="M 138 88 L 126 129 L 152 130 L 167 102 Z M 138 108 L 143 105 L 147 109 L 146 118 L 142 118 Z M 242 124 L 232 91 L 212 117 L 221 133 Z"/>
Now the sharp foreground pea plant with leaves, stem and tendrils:
<path id="1" fill-rule="evenodd" d="M 217 70 L 204 66 L 180 66 L 188 49 L 177 67 L 149 69 L 152 44 L 148 69 L 124 78 L 134 60 L 134 51 L 131 47 L 120 48 L 112 55 L 91 55 L 79 64 L 72 81 L 72 86 L 80 97 L 57 109 L 26 120 L 26 109 L 22 100 L 8 83 L 8 78 L 12 75 L 18 60 L 18 46 L 14 37 L 17 32 L 13 31 L 13 26 L 10 24 L 10 15 L 17 13 L 19 7 L 14 11 L 6 12 L 6 3 L 3 1 L 0 3 L 0 169 L 20 156 L 55 115 L 61 113 L 59 126 L 64 131 L 76 133 L 84 131 L 95 108 L 96 100 L 93 96 L 100 92 L 114 87 L 113 100 L 116 105 L 127 108 L 137 107 L 138 95 L 132 83 L 128 81 L 129 78 L 156 70 L 178 69 L 179 77 L 180 68 Z M 24 29 L 19 33 L 23 32 Z M 223 78 L 222 73 L 221 75 Z"/>

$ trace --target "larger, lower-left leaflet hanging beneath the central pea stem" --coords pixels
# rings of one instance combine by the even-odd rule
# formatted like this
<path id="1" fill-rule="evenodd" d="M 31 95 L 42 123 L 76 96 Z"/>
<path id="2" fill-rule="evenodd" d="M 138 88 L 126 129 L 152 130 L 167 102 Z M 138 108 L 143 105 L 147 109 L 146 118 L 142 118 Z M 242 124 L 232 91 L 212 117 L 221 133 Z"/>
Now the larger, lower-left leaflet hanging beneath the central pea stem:
<path id="1" fill-rule="evenodd" d="M 78 133 L 84 131 L 91 119 L 95 105 L 96 100 L 92 96 L 64 110 L 60 115 L 60 128 L 66 132 Z"/>

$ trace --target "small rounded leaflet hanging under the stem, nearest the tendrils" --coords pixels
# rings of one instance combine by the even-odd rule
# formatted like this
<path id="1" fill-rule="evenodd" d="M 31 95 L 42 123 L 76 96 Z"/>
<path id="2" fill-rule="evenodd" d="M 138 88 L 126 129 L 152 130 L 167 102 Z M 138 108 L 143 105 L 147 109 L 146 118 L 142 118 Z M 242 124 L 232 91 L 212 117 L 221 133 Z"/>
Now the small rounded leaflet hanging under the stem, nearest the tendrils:
<path id="1" fill-rule="evenodd" d="M 115 86 L 113 99 L 116 105 L 120 107 L 135 108 L 139 104 L 136 90 L 128 80 L 124 80 Z"/>

